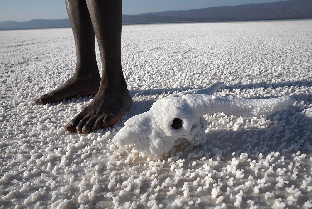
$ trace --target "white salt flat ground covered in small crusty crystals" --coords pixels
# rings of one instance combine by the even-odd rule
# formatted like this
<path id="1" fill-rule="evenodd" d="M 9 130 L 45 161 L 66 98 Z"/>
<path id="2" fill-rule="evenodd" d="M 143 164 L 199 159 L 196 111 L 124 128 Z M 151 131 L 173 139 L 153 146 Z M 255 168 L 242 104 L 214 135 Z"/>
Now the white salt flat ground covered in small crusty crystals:
<path id="1" fill-rule="evenodd" d="M 0 31 L 0 207 L 312 207 L 311 25 L 123 26 L 134 104 L 116 125 L 90 134 L 63 126 L 93 97 L 32 102 L 72 75 L 71 28 Z M 154 101 L 215 81 L 225 82 L 219 96 L 296 102 L 263 117 L 205 115 L 206 145 L 178 144 L 159 159 L 112 142 Z"/>

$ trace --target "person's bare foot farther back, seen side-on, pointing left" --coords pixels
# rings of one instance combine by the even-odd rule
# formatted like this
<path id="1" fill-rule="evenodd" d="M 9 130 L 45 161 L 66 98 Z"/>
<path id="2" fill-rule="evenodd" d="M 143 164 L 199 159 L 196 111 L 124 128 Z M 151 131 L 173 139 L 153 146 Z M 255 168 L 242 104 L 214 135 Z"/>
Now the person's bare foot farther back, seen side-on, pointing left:
<path id="1" fill-rule="evenodd" d="M 34 103 L 41 105 L 46 103 L 60 102 L 63 99 L 78 95 L 95 95 L 98 92 L 100 80 L 100 75 L 93 79 L 77 79 L 75 77 L 71 77 L 56 90 L 51 91 L 48 94 L 44 94 L 38 99 L 35 99 Z"/>

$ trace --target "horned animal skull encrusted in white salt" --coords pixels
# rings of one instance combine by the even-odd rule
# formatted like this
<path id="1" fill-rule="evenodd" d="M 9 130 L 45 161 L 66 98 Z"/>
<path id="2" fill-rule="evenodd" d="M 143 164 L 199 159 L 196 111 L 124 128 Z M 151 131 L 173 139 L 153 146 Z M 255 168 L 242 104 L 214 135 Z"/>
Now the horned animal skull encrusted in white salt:
<path id="1" fill-rule="evenodd" d="M 283 96 L 272 99 L 244 99 L 214 96 L 223 86 L 216 82 L 205 89 L 180 92 L 156 101 L 151 109 L 133 116 L 114 137 L 117 146 L 134 144 L 142 156 L 159 156 L 173 149 L 177 140 L 197 146 L 206 142 L 207 121 L 203 115 L 224 112 L 234 116 L 259 116 L 272 113 L 295 99 Z"/>

